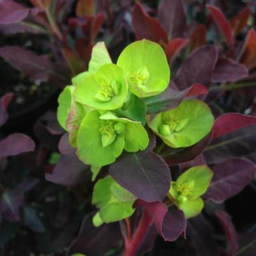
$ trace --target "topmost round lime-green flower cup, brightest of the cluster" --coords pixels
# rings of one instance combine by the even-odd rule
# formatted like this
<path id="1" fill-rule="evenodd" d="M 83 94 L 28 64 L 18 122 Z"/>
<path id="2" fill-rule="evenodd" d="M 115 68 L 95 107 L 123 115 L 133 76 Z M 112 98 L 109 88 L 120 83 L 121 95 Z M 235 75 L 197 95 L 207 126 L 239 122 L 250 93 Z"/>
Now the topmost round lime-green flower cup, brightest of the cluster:
<path id="1" fill-rule="evenodd" d="M 123 68 L 129 90 L 139 98 L 162 93 L 170 81 L 170 68 L 162 47 L 149 40 L 135 41 L 121 52 L 117 66 Z"/>

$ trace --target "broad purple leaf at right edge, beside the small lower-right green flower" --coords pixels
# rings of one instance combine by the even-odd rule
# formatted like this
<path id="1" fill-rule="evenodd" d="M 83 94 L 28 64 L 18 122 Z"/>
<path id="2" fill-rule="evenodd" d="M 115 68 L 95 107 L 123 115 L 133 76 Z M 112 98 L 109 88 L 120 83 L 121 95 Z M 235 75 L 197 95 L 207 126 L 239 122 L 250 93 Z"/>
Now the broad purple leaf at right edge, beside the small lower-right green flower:
<path id="1" fill-rule="evenodd" d="M 213 170 L 213 179 L 203 199 L 216 204 L 241 192 L 252 182 L 256 172 L 254 163 L 243 158 L 230 158 L 210 168 Z"/>

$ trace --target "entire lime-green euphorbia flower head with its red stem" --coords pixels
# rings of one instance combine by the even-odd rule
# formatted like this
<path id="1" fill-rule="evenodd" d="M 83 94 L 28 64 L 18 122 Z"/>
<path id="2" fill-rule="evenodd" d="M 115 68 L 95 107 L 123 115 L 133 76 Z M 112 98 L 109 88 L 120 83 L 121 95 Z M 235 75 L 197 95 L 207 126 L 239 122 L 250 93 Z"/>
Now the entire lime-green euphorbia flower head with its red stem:
<path id="1" fill-rule="evenodd" d="M 151 166 L 141 162 L 144 160 L 139 156 L 140 152 L 147 154 L 155 147 L 153 134 L 163 142 L 154 149 L 160 155 L 151 153 L 149 156 L 157 158 L 163 165 L 162 172 L 167 174 L 170 170 L 161 158 L 164 145 L 180 150 L 193 146 L 210 132 L 214 118 L 206 103 L 184 100 L 174 108 L 164 105 L 162 93 L 165 93 L 169 80 L 170 70 L 165 53 L 160 45 L 152 41 L 141 40 L 128 45 L 121 52 L 117 64 L 112 63 L 103 42 L 94 46 L 89 70 L 73 78 L 73 85 L 67 86 L 60 94 L 57 112 L 59 123 L 70 133 L 70 144 L 76 147 L 77 156 L 86 165 L 91 165 L 93 180 L 102 166 L 123 159 L 124 165 L 129 165 L 128 160 L 125 163 L 126 154 L 138 162 L 145 176 L 161 176 L 160 173 L 150 174 Z M 153 112 L 147 110 L 151 98 L 158 102 L 162 112 L 154 114 L 156 109 Z M 136 176 L 130 179 L 136 179 Z M 167 177 L 169 180 L 165 181 L 158 202 L 147 197 L 147 192 L 135 192 L 137 188 L 130 188 L 116 175 L 98 179 L 94 185 L 92 203 L 99 211 L 94 215 L 93 223 L 98 227 L 104 222 L 126 220 L 128 237 L 125 239 L 124 255 L 133 256 L 137 253 L 153 220 L 158 232 L 172 241 L 184 232 L 185 217 L 196 216 L 202 211 L 204 203 L 200 196 L 206 192 L 212 177 L 206 165 L 187 170 L 176 181 L 171 182 L 170 174 Z M 150 179 L 147 181 L 149 184 Z M 154 190 L 154 186 L 161 186 L 152 185 Z M 137 199 L 140 203 L 133 204 Z M 158 217 L 162 218 L 161 223 L 158 223 L 154 211 L 147 213 L 151 204 L 155 204 L 156 209 L 165 209 L 162 216 Z M 144 208 L 144 213 L 132 237 L 128 218 L 139 206 Z M 139 208 L 137 211 L 140 211 Z M 158 227 L 166 221 L 167 212 L 171 216 L 178 216 L 180 223 L 177 225 L 181 224 L 172 235 L 165 234 L 162 227 Z"/>

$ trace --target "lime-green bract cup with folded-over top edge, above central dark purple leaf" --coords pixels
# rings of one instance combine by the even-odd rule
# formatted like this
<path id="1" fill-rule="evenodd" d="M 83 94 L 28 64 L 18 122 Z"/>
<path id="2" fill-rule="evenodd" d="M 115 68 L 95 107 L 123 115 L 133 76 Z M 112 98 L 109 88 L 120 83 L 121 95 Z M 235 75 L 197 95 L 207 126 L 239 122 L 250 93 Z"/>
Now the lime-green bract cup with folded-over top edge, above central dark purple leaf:
<path id="1" fill-rule="evenodd" d="M 100 167 L 114 163 L 123 149 L 137 152 L 148 144 L 147 132 L 140 122 L 92 110 L 80 124 L 77 155 L 87 165 Z"/>

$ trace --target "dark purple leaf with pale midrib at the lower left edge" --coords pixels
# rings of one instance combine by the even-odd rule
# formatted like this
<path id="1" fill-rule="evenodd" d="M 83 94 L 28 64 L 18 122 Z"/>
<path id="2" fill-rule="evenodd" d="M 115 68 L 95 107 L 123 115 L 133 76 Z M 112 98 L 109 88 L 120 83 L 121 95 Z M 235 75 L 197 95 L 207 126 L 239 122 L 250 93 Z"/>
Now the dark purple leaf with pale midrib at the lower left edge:
<path id="1" fill-rule="evenodd" d="M 19 190 L 6 191 L 0 197 L 0 213 L 10 222 L 19 222 L 20 206 L 23 204 L 23 193 Z"/>

